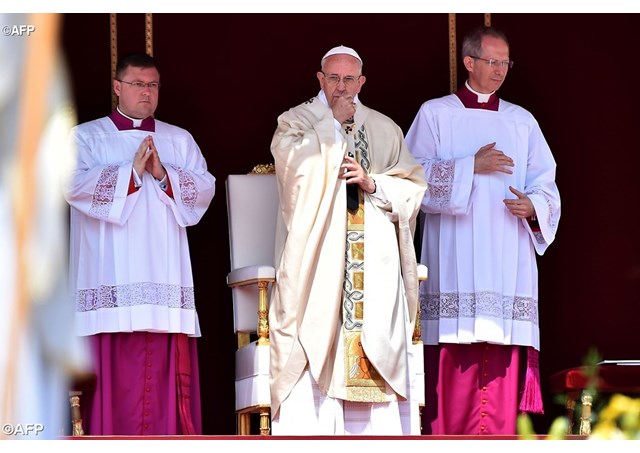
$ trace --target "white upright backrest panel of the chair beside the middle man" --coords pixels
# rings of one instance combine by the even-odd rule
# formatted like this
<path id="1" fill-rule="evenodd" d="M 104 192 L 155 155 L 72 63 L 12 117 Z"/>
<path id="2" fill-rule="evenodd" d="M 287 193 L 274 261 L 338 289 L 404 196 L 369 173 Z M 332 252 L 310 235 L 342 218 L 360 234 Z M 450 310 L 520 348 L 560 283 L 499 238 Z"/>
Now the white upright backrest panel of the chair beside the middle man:
<path id="1" fill-rule="evenodd" d="M 231 269 L 273 266 L 278 214 L 276 175 L 229 175 L 227 213 Z"/>

